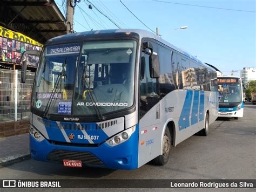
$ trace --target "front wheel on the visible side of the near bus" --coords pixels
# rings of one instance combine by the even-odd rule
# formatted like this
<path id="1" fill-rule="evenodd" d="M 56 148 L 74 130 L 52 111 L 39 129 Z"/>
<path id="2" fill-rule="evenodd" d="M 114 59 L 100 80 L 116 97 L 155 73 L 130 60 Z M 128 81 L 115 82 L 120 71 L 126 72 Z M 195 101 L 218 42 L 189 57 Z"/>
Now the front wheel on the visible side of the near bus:
<path id="1" fill-rule="evenodd" d="M 152 161 L 154 164 L 159 166 L 163 166 L 166 164 L 170 157 L 170 149 L 171 149 L 171 134 L 169 128 L 166 127 L 163 139 L 163 155 L 159 155 L 158 157 L 154 158 Z"/>

